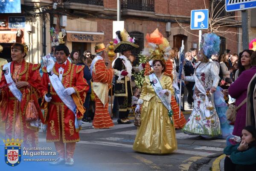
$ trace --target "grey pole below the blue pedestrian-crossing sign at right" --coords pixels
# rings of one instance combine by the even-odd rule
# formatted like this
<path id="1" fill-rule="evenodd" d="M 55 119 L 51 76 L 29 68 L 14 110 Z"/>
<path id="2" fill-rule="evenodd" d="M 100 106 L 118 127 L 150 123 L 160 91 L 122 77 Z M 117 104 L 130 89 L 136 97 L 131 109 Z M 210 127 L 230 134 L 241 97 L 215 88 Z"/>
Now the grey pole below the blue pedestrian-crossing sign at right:
<path id="1" fill-rule="evenodd" d="M 242 10 L 242 45 L 243 50 L 249 49 L 249 36 L 248 36 L 248 13 L 247 10 Z"/>

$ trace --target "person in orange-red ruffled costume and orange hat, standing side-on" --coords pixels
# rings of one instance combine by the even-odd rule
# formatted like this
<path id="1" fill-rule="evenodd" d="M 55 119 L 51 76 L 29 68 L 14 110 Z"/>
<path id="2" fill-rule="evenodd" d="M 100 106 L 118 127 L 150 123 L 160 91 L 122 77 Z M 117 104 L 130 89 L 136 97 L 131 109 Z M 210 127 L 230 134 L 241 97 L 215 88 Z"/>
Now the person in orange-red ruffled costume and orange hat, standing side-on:
<path id="1" fill-rule="evenodd" d="M 95 129 L 113 127 L 113 121 L 108 113 L 108 90 L 111 88 L 113 69 L 105 65 L 106 48 L 103 43 L 96 44 L 96 57 L 90 67 L 93 76 L 93 93 L 95 94 L 95 114 L 93 127 Z"/>

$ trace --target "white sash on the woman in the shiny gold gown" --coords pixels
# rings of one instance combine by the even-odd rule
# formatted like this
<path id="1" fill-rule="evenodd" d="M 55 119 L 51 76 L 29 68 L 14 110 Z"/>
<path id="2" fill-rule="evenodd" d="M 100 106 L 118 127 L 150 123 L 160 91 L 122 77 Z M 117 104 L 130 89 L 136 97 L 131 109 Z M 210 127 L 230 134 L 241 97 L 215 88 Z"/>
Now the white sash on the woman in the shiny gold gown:
<path id="1" fill-rule="evenodd" d="M 171 104 L 168 101 L 168 96 L 163 95 L 160 96 L 159 92 L 163 90 L 162 85 L 160 84 L 160 81 L 158 80 L 157 76 L 153 74 L 148 75 L 150 79 L 150 83 L 152 84 L 152 87 L 154 88 L 155 93 L 159 97 L 159 99 L 162 101 L 163 105 L 166 107 L 168 110 L 168 115 L 170 116 L 171 122 L 172 122 L 172 107 Z M 171 94 L 169 94 L 171 96 Z M 172 122 L 173 124 L 173 122 Z"/>

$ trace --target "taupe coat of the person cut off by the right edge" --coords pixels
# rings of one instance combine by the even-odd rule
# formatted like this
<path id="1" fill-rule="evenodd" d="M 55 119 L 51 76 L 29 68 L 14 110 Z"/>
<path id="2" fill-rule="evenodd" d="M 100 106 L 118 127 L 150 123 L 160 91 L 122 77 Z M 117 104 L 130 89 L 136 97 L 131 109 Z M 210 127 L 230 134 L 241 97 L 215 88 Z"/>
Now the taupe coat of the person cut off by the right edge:
<path id="1" fill-rule="evenodd" d="M 251 96 L 253 96 L 253 104 L 250 101 Z M 252 116 L 252 107 L 254 110 L 254 117 Z M 254 118 L 254 121 L 256 121 L 256 74 L 251 79 L 247 89 L 246 126 L 253 125 L 252 118 Z"/>

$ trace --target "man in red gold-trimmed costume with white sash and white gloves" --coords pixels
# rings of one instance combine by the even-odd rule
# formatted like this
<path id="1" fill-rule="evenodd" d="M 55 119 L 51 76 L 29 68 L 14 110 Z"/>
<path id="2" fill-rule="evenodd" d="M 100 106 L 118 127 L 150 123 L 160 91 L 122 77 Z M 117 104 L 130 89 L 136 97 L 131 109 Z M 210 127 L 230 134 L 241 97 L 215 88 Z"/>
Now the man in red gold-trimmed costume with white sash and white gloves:
<path id="1" fill-rule="evenodd" d="M 89 90 L 84 79 L 84 67 L 71 64 L 67 60 L 69 54 L 67 46 L 56 46 L 57 62 L 43 68 L 40 85 L 41 108 L 45 110 L 44 116 L 40 117 L 43 123 L 48 124 L 46 139 L 47 142 L 54 142 L 59 154 L 58 159 L 50 163 L 52 165 L 74 163 L 73 155 L 76 142 L 80 140 L 79 130 L 85 112 L 83 103 Z"/>

